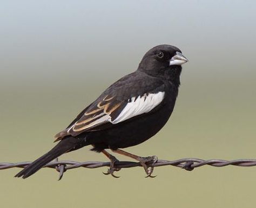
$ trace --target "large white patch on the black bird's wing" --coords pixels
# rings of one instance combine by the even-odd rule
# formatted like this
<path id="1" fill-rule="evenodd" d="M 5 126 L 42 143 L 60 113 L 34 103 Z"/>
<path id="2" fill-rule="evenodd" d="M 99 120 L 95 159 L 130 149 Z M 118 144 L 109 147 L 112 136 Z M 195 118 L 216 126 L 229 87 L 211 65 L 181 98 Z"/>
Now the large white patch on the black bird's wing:
<path id="1" fill-rule="evenodd" d="M 156 94 L 150 93 L 138 96 L 137 98 L 131 98 L 129 100 L 130 102 L 127 103 L 117 118 L 110 122 L 115 124 L 130 119 L 131 117 L 150 112 L 164 100 L 164 94 L 164 92 L 158 92 Z"/>

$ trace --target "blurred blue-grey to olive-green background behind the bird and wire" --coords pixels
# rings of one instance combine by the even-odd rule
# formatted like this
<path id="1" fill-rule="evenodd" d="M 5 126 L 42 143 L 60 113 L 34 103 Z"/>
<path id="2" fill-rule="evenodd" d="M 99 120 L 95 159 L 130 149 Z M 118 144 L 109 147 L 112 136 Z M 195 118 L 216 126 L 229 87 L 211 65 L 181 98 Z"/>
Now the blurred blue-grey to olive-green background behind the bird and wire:
<path id="1" fill-rule="evenodd" d="M 161 159 L 255 158 L 255 1 L 1 1 L 0 162 L 33 161 L 103 90 L 172 44 L 183 67 L 163 130 L 127 148 Z M 60 160 L 107 161 L 85 147 Z M 118 156 L 120 160 L 127 160 Z M 255 167 L 188 172 L 42 169 L 23 180 L 0 171 L 2 207 L 253 207 Z"/>

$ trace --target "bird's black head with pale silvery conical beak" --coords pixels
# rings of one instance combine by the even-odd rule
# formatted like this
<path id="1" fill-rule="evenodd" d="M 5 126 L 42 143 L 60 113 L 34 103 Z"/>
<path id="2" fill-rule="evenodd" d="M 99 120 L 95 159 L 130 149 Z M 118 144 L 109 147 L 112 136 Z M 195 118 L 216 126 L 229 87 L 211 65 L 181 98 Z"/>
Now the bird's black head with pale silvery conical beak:
<path id="1" fill-rule="evenodd" d="M 146 52 L 138 70 L 152 76 L 179 81 L 181 65 L 187 61 L 179 48 L 172 45 L 158 45 Z"/>

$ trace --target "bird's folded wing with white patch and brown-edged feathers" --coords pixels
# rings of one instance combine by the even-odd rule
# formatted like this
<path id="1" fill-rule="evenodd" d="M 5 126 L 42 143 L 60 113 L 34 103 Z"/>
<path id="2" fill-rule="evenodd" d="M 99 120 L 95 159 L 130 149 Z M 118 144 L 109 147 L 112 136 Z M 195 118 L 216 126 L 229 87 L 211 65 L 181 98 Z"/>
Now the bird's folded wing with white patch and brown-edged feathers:
<path id="1" fill-rule="evenodd" d="M 111 128 L 114 124 L 149 113 L 164 100 L 163 83 L 156 81 L 151 83 L 151 80 L 140 83 L 144 86 L 140 86 L 143 89 L 136 89 L 134 84 L 130 86 L 132 82 L 129 79 L 119 80 L 110 86 L 95 102 L 83 110 L 68 128 L 55 136 L 56 141 L 67 135 L 77 136 L 85 131 Z M 136 83 L 138 85 L 138 82 Z"/>

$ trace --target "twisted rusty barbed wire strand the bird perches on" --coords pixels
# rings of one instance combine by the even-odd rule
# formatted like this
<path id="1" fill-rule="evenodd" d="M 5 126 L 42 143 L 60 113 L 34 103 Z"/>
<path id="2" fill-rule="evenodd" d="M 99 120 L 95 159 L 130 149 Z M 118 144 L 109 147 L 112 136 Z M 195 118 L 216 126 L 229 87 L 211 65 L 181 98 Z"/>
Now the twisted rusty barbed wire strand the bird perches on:
<path id="1" fill-rule="evenodd" d="M 19 163 L 0 163 L 0 170 L 9 168 L 25 168 L 31 162 L 19 162 Z M 58 161 L 56 159 L 44 166 L 44 168 L 53 168 L 59 172 L 59 180 L 62 179 L 65 171 L 75 168 L 100 168 L 100 167 L 110 167 L 110 162 L 76 162 L 76 161 Z M 198 158 L 183 158 L 174 161 L 158 160 L 154 164 L 149 164 L 150 167 L 161 167 L 166 165 L 172 165 L 174 167 L 182 168 L 187 171 L 192 171 L 195 168 L 199 168 L 203 165 L 210 165 L 212 167 L 224 167 L 227 165 L 235 165 L 240 167 L 252 167 L 256 166 L 256 159 L 239 159 L 239 160 L 201 160 Z M 116 169 L 122 168 L 134 168 L 142 167 L 139 162 L 130 161 L 118 161 L 114 163 Z"/>

